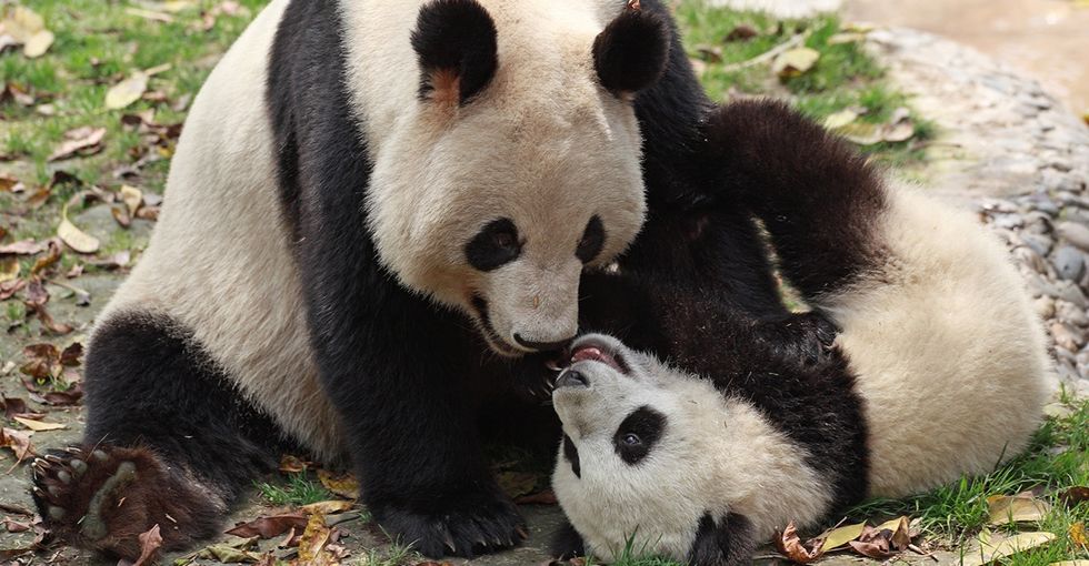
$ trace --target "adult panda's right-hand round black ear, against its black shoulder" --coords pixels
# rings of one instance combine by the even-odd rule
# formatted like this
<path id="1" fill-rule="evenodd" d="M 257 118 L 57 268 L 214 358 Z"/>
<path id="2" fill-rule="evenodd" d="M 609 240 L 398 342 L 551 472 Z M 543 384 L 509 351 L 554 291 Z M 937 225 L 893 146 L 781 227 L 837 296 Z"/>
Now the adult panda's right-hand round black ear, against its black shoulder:
<path id="1" fill-rule="evenodd" d="M 629 0 L 628 7 L 593 40 L 593 67 L 601 85 L 630 94 L 658 80 L 669 59 L 669 24 Z"/>

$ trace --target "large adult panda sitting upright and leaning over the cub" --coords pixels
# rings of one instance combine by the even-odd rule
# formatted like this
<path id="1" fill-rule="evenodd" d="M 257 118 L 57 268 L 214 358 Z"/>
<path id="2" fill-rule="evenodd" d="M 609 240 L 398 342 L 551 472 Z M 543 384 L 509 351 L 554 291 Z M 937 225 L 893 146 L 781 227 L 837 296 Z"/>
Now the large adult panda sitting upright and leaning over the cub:
<path id="1" fill-rule="evenodd" d="M 656 0 L 273 0 L 194 100 L 97 321 L 83 445 L 34 464 L 47 526 L 186 547 L 287 441 L 350 459 L 427 555 L 516 544 L 476 418 L 529 406 L 508 358 L 575 335 L 583 269 L 643 265 L 721 199 L 709 109 Z M 718 211 L 700 276 L 781 311 L 753 222 Z"/>

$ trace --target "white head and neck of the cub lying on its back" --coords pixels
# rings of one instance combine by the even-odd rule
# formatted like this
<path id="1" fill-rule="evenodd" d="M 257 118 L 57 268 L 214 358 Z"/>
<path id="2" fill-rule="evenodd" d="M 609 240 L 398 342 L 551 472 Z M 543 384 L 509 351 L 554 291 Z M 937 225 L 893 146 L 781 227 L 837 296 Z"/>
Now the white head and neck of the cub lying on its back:
<path id="1" fill-rule="evenodd" d="M 750 403 L 609 336 L 571 352 L 552 393 L 552 487 L 588 552 L 610 560 L 631 542 L 685 560 L 707 515 L 741 515 L 759 539 L 826 509 L 806 452 Z"/>

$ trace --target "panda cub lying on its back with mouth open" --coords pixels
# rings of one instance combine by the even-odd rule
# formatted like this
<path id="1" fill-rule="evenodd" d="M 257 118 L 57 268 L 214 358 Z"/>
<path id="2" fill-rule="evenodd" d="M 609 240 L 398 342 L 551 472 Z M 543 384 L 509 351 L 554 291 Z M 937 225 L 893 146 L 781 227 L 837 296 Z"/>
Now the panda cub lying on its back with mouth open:
<path id="1" fill-rule="evenodd" d="M 560 554 L 609 560 L 633 542 L 747 563 L 790 520 L 986 473 L 1039 424 L 1045 341 L 1000 244 L 970 214 L 886 186 L 806 120 L 782 110 L 746 130 L 745 114 L 709 122 L 712 140 L 735 140 L 716 141 L 739 163 L 723 182 L 813 311 L 769 325 L 677 277 L 613 275 L 632 314 L 593 323 L 655 354 L 603 334 L 569 348 L 552 394 L 553 487 L 573 526 Z M 749 183 L 746 169 L 782 182 Z M 778 345 L 807 333 L 809 348 Z"/>

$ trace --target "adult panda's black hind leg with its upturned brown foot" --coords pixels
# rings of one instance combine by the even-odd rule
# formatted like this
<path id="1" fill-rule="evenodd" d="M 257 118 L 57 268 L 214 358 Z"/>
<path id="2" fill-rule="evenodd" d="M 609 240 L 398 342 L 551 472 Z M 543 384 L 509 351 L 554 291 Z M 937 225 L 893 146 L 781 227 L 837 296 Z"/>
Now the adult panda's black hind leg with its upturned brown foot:
<path id="1" fill-rule="evenodd" d="M 104 321 L 84 387 L 82 445 L 32 465 L 46 526 L 69 544 L 134 559 L 138 535 L 159 525 L 166 549 L 188 547 L 217 534 L 228 505 L 274 464 L 274 425 L 163 316 Z"/>

